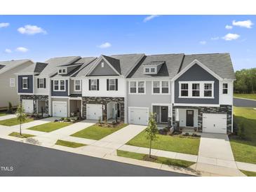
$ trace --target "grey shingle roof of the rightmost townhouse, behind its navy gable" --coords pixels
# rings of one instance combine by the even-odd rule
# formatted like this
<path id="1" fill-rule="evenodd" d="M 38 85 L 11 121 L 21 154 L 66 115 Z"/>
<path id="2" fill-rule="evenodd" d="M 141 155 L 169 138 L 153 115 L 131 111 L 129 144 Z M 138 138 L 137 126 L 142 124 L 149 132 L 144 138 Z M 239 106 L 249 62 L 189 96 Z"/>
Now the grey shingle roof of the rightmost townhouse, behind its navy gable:
<path id="1" fill-rule="evenodd" d="M 198 60 L 198 62 L 201 62 L 203 65 L 208 67 L 208 69 L 223 79 L 236 78 L 229 53 L 185 55 L 180 71 L 191 64 L 194 60 Z"/>

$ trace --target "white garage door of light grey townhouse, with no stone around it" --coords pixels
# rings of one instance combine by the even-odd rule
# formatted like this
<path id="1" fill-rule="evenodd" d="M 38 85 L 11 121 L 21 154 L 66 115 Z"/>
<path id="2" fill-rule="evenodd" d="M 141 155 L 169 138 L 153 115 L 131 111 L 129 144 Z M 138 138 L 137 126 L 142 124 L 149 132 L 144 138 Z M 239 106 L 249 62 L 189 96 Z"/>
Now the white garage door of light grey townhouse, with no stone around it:
<path id="1" fill-rule="evenodd" d="M 129 123 L 137 125 L 147 125 L 149 120 L 149 109 L 129 108 Z"/>

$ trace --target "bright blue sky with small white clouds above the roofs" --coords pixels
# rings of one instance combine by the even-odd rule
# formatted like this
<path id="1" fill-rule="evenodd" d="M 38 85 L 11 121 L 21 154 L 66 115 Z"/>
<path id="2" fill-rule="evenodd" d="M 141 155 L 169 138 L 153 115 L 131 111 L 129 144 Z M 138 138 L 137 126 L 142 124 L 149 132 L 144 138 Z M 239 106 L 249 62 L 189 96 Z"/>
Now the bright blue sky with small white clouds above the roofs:
<path id="1" fill-rule="evenodd" d="M 255 15 L 0 15 L 0 60 L 230 53 L 235 70 L 252 68 L 255 23 Z"/>

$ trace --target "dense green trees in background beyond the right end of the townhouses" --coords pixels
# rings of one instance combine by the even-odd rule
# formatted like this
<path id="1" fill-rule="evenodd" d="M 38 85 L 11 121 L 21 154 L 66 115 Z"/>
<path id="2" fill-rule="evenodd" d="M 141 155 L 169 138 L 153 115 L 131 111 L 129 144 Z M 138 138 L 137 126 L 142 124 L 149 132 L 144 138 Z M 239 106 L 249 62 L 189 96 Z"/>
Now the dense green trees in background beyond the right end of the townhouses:
<path id="1" fill-rule="evenodd" d="M 256 68 L 241 69 L 240 71 L 236 71 L 234 92 L 256 93 Z"/>

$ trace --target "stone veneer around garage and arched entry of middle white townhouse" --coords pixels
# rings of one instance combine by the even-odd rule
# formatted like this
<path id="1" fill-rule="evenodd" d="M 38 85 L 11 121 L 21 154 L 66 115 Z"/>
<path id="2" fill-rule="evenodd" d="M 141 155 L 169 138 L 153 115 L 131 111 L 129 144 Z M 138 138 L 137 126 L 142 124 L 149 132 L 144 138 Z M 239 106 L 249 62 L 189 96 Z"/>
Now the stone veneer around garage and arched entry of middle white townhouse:
<path id="1" fill-rule="evenodd" d="M 103 104 L 102 120 L 107 119 L 107 104 L 109 102 L 117 102 L 120 105 L 120 121 L 124 121 L 124 97 L 82 97 L 83 102 L 83 118 L 86 118 L 86 104 Z"/>

